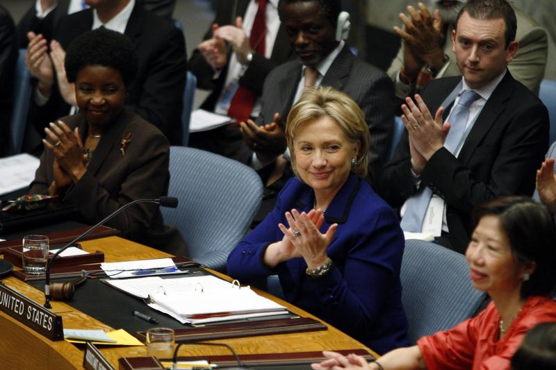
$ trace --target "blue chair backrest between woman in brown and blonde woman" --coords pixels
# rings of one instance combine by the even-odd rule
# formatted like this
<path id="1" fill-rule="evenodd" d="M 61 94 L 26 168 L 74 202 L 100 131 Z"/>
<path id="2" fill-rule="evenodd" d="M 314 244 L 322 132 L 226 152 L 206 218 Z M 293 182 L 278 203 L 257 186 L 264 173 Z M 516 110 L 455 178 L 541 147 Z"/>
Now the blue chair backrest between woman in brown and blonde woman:
<path id="1" fill-rule="evenodd" d="M 225 271 L 228 254 L 245 235 L 261 204 L 259 175 L 236 160 L 172 146 L 168 194 L 179 199 L 179 206 L 161 208 L 164 221 L 180 230 L 188 256 Z"/>

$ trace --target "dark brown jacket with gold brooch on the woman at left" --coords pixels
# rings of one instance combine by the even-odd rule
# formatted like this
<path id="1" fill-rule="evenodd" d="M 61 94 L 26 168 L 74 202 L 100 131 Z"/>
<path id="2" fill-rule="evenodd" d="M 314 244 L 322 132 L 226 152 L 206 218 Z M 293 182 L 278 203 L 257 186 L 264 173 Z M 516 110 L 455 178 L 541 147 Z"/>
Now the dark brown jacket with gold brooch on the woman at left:
<path id="1" fill-rule="evenodd" d="M 88 125 L 81 115 L 61 120 L 70 128 L 79 126 L 79 133 L 86 137 Z M 128 133 L 131 133 L 131 142 L 122 155 L 122 138 Z M 161 131 L 136 113 L 123 110 L 102 135 L 85 175 L 65 191 L 63 202 L 77 208 L 80 221 L 95 224 L 130 201 L 156 199 L 167 194 L 169 159 L 170 146 Z M 31 183 L 31 194 L 48 194 L 54 180 L 53 162 L 54 153 L 45 149 Z M 124 237 L 136 242 L 172 254 L 187 253 L 179 232 L 164 226 L 158 205 L 133 205 L 107 225 L 121 230 Z"/>

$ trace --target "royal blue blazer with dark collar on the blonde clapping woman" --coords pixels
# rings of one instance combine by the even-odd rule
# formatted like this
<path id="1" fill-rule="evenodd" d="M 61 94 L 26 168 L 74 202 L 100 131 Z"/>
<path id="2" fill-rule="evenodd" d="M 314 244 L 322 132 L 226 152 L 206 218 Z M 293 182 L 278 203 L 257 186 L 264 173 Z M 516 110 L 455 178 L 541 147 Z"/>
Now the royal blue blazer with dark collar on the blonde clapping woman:
<path id="1" fill-rule="evenodd" d="M 321 233 L 337 223 L 327 253 L 334 269 L 318 279 L 305 274 L 303 258 L 293 258 L 270 271 L 263 264 L 268 244 L 284 237 L 278 224 L 284 213 L 309 212 L 314 192 L 297 178 L 288 180 L 275 209 L 228 257 L 228 274 L 240 281 L 277 273 L 286 299 L 331 323 L 377 353 L 407 346 L 407 319 L 402 308 L 400 265 L 404 237 L 395 212 L 354 174 L 325 213 Z"/>

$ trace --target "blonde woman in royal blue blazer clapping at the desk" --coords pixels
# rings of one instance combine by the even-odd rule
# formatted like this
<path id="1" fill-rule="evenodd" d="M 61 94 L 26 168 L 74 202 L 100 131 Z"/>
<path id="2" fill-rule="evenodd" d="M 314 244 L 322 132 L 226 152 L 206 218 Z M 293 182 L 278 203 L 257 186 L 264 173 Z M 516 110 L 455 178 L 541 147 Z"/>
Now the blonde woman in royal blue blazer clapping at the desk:
<path id="1" fill-rule="evenodd" d="M 288 115 L 297 177 L 228 258 L 228 273 L 277 273 L 288 301 L 384 353 L 407 344 L 398 217 L 364 177 L 363 112 L 331 87 L 307 89 Z"/>

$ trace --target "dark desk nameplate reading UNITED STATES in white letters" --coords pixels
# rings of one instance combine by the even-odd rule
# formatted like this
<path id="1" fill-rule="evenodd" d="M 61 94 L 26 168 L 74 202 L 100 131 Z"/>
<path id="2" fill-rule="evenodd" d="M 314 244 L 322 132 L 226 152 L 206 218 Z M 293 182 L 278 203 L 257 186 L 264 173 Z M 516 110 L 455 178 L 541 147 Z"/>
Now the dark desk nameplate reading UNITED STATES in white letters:
<path id="1" fill-rule="evenodd" d="M 62 317 L 0 283 L 0 310 L 51 340 L 63 340 Z"/>

